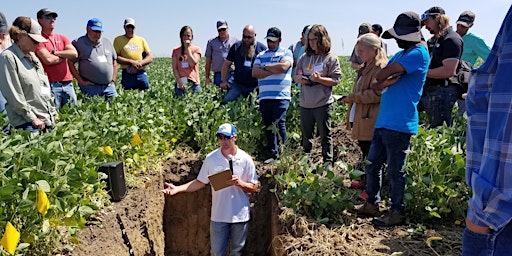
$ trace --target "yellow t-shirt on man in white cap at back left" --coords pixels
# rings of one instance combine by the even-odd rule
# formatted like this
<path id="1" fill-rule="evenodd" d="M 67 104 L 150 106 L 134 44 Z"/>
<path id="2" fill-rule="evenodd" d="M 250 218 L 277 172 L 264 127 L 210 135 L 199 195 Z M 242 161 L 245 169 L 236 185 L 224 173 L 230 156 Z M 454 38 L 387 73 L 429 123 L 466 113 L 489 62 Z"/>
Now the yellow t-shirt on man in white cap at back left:
<path id="1" fill-rule="evenodd" d="M 128 38 L 125 35 L 121 35 L 114 39 L 114 49 L 118 56 L 128 58 L 131 60 L 142 60 L 143 53 L 148 53 L 149 49 L 146 40 L 140 36 L 134 35 L 132 38 Z M 121 65 L 121 68 L 126 68 L 127 65 Z"/>

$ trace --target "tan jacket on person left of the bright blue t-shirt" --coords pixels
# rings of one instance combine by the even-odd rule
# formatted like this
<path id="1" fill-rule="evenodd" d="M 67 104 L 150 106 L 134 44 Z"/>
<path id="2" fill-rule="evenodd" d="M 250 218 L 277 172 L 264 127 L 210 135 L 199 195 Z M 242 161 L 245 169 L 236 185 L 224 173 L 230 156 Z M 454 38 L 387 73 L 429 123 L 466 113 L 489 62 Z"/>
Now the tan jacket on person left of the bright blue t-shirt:
<path id="1" fill-rule="evenodd" d="M 386 65 L 376 66 L 375 62 L 365 64 L 358 71 L 352 93 L 347 98 L 353 103 L 350 104 L 347 112 L 346 128 L 352 130 L 352 139 L 371 141 L 375 122 L 380 109 L 380 96 L 371 89 L 371 83 L 375 74 Z M 355 106 L 354 123 L 350 126 L 350 111 Z"/>

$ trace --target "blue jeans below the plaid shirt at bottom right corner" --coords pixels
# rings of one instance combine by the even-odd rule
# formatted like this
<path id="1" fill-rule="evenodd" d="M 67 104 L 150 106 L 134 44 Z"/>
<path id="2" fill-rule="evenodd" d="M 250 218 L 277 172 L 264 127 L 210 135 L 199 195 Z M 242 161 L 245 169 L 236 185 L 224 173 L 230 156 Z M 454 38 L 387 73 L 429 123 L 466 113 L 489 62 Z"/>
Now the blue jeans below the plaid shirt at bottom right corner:
<path id="1" fill-rule="evenodd" d="M 462 234 L 463 256 L 510 255 L 512 252 L 512 222 L 489 234 L 475 233 L 467 227 Z"/>

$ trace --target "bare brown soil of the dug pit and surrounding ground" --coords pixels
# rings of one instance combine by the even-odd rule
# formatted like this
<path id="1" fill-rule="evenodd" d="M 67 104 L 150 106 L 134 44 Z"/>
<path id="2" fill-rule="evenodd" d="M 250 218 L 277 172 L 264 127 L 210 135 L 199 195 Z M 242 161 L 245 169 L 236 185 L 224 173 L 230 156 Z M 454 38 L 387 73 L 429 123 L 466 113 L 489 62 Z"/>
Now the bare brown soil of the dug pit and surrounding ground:
<path id="1" fill-rule="evenodd" d="M 360 151 L 350 134 L 341 127 L 333 131 L 337 161 L 355 164 Z M 319 148 L 316 146 L 316 148 Z M 314 152 L 320 159 L 319 152 Z M 376 229 L 371 219 L 340 213 L 349 225 L 325 226 L 289 209 L 279 207 L 266 177 L 268 165 L 257 162 L 262 184 L 251 195 L 251 222 L 243 255 L 460 255 L 462 228 L 408 224 Z M 163 172 L 147 174 L 147 181 L 130 189 L 111 209 L 78 234 L 80 246 L 71 255 L 130 255 L 116 213 L 125 227 L 133 255 L 209 255 L 209 216 L 211 189 L 164 197 L 164 181 L 183 184 L 193 180 L 202 160 L 194 154 L 167 159 Z M 348 180 L 348 173 L 339 172 Z M 348 188 L 347 188 L 348 189 Z M 354 202 L 357 203 L 357 202 Z"/>

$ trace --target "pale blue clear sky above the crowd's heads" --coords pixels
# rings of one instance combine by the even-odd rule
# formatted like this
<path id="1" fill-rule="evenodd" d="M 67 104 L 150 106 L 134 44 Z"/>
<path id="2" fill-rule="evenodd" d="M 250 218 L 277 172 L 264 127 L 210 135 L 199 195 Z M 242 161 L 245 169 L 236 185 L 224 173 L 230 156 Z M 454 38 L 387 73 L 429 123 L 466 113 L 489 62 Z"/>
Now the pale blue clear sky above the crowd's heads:
<path id="1" fill-rule="evenodd" d="M 59 14 L 55 32 L 70 40 L 85 34 L 87 20 L 97 17 L 103 21 L 104 36 L 114 37 L 124 33 L 123 21 L 132 17 L 137 23 L 136 34 L 146 38 L 154 56 L 168 57 L 179 45 L 179 31 L 189 25 L 194 30 L 193 43 L 203 50 L 209 38 L 217 35 L 215 23 L 226 19 L 230 34 L 241 38 L 246 24 L 254 25 L 257 39 L 263 43 L 269 27 L 282 31 L 282 46 L 288 47 L 300 38 L 307 24 L 322 24 L 332 41 L 337 55 L 350 55 L 357 37 L 357 28 L 363 22 L 379 23 L 384 30 L 393 26 L 396 16 L 404 11 L 419 14 L 432 6 L 441 6 L 455 26 L 459 14 L 465 10 L 476 13 L 471 32 L 484 38 L 492 46 L 503 18 L 511 5 L 510 0 L 490 1 L 406 1 L 406 0 L 259 0 L 259 1 L 134 1 L 134 0 L 87 0 L 87 1 L 14 1 L 3 0 L 2 11 L 8 23 L 18 16 L 36 18 L 41 8 L 50 8 Z M 406 7 L 407 6 L 407 7 Z M 423 31 L 430 38 L 428 31 Z M 390 54 L 398 48 L 394 40 L 388 41 Z"/>

